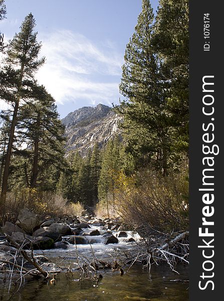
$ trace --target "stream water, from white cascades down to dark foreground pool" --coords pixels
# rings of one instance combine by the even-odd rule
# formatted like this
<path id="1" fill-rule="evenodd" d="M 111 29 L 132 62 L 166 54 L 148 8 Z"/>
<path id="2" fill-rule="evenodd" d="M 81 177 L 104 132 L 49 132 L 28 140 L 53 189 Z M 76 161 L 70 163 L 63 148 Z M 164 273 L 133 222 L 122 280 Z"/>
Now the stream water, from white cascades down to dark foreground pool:
<path id="1" fill-rule="evenodd" d="M 100 229 L 92 226 L 90 230 Z M 85 229 L 86 230 L 86 229 Z M 101 229 L 100 229 L 101 230 Z M 103 234 L 103 231 L 101 232 Z M 23 283 L 19 292 L 12 295 L 8 293 L 8 284 L 0 280 L 0 300 L 16 301 L 122 301 L 122 300 L 151 300 L 151 301 L 187 301 L 188 300 L 188 267 L 177 266 L 179 274 L 170 270 L 167 265 L 151 266 L 150 273 L 143 270 L 140 264 L 134 264 L 124 274 L 118 271 L 103 270 L 103 278 L 96 284 L 91 279 L 83 278 L 79 281 L 80 272 L 77 268 L 77 254 L 85 258 L 94 256 L 98 259 L 110 259 L 115 255 L 128 253 L 134 248 L 134 243 L 128 243 L 130 237 L 138 239 L 138 235 L 128 232 L 127 238 L 119 238 L 117 244 L 103 244 L 102 236 L 86 236 L 90 244 L 70 245 L 67 250 L 52 249 L 45 250 L 44 255 L 61 267 L 70 264 L 74 269 L 73 277 L 67 277 L 61 272 L 56 279 L 55 285 L 46 283 L 43 279 L 33 280 L 29 278 Z M 69 239 L 69 237 L 64 238 Z M 43 251 L 36 251 L 43 254 Z M 18 286 L 12 285 L 11 291 L 16 291 Z"/>

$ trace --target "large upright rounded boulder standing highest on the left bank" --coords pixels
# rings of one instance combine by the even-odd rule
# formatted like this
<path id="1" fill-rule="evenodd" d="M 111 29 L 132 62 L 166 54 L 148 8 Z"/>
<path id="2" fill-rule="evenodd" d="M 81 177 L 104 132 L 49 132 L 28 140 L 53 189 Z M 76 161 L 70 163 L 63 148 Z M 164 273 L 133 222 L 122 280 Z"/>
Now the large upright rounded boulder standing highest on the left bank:
<path id="1" fill-rule="evenodd" d="M 24 208 L 19 212 L 16 224 L 29 234 L 32 234 L 40 224 L 39 218 L 29 209 Z"/>

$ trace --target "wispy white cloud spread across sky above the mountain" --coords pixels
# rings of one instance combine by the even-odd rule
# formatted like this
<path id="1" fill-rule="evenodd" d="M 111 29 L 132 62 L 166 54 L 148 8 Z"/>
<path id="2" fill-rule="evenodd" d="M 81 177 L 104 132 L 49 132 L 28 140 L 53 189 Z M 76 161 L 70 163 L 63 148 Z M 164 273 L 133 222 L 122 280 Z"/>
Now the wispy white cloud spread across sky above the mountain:
<path id="1" fill-rule="evenodd" d="M 105 45 L 97 46 L 71 31 L 58 31 L 39 38 L 46 63 L 37 79 L 54 96 L 56 103 L 76 99 L 89 100 L 91 104 L 115 101 L 123 59 L 112 42 L 105 41 Z"/>

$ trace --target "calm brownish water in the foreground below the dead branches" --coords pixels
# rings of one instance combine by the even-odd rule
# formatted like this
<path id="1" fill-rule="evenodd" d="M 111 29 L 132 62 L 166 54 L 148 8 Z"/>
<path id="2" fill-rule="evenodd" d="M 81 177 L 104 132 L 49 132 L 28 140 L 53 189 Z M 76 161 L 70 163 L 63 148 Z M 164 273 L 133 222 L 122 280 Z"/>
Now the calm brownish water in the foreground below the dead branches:
<path id="1" fill-rule="evenodd" d="M 140 265 L 134 265 L 128 273 L 121 276 L 118 272 L 105 271 L 103 279 L 95 285 L 89 279 L 77 281 L 79 273 L 68 279 L 61 273 L 56 285 L 46 284 L 43 280 L 29 280 L 20 292 L 8 294 L 3 282 L 0 284 L 2 301 L 114 301 L 114 300 L 151 300 L 151 301 L 187 301 L 188 267 L 178 266 L 180 275 L 167 266 L 152 266 L 151 273 L 142 271 Z M 178 281 L 177 281 L 178 279 Z M 171 280 L 171 281 L 170 281 Z M 175 280 L 175 281 L 172 281 Z M 12 288 L 16 290 L 17 288 Z"/>

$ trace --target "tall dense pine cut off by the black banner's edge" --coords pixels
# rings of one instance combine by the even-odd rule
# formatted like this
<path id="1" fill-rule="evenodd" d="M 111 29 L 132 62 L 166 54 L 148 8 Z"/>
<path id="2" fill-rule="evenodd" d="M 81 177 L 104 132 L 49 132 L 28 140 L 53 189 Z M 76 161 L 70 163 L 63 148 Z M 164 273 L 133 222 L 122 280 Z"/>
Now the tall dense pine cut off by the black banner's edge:
<path id="1" fill-rule="evenodd" d="M 172 151 L 188 153 L 189 3 L 160 0 L 153 43 L 161 59 Z"/>

